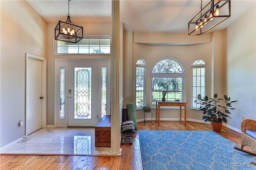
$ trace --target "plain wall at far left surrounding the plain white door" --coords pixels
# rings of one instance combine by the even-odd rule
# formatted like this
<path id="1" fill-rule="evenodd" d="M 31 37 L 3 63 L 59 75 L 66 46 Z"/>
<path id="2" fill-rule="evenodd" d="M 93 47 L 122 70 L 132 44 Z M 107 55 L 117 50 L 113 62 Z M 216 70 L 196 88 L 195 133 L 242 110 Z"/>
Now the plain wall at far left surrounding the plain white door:
<path id="1" fill-rule="evenodd" d="M 46 58 L 46 21 L 26 1 L 1 3 L 0 147 L 25 135 L 26 53 Z"/>

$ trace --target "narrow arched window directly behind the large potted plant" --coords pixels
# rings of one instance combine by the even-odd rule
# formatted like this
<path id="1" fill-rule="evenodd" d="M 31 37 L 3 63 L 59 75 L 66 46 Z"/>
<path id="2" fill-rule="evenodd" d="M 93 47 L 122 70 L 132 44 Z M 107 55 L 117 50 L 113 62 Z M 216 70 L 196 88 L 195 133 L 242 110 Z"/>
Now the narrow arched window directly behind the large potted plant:
<path id="1" fill-rule="evenodd" d="M 202 59 L 196 59 L 192 65 L 192 108 L 199 108 L 200 104 L 194 103 L 198 94 L 205 96 L 205 62 Z"/>

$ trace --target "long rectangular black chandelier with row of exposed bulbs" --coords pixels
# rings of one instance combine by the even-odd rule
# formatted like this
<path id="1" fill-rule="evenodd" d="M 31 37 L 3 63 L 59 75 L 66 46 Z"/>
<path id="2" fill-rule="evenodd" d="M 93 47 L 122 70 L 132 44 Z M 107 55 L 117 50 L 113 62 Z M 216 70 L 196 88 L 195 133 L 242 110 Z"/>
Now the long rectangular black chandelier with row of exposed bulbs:
<path id="1" fill-rule="evenodd" d="M 202 35 L 230 17 L 231 0 L 214 1 L 203 8 L 201 0 L 201 11 L 188 23 L 188 35 Z"/>

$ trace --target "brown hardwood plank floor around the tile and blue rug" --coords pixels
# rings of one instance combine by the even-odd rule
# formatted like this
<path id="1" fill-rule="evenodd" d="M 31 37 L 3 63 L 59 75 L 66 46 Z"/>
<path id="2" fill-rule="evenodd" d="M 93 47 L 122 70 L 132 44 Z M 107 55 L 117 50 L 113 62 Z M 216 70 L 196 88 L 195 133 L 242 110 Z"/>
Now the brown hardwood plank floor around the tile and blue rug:
<path id="1" fill-rule="evenodd" d="M 190 121 L 186 127 L 179 121 L 160 121 L 160 126 L 153 123 L 138 122 L 138 129 L 212 131 L 209 124 Z M 222 127 L 219 134 L 240 145 L 240 133 Z M 126 143 L 121 148 L 121 156 L 0 155 L 0 170 L 143 170 L 139 135 L 134 137 L 132 145 Z"/>

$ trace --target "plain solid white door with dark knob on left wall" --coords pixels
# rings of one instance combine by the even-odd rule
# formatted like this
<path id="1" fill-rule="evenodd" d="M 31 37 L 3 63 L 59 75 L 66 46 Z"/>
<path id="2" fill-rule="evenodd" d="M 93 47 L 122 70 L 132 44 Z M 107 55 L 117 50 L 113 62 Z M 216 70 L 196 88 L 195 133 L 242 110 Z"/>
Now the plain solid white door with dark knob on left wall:
<path id="1" fill-rule="evenodd" d="M 27 58 L 26 134 L 42 128 L 42 61 Z"/>

